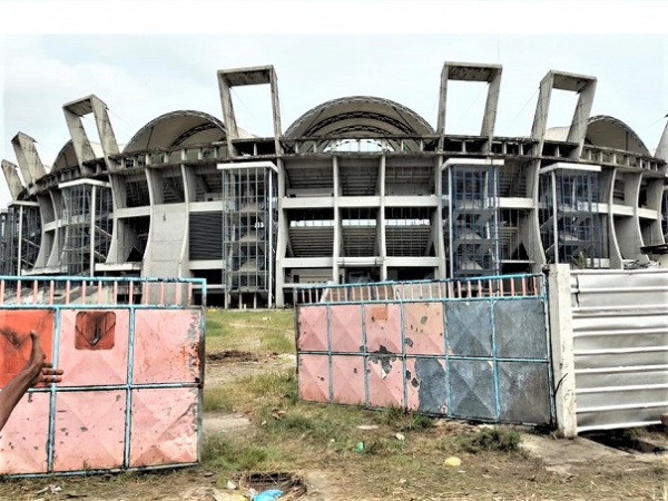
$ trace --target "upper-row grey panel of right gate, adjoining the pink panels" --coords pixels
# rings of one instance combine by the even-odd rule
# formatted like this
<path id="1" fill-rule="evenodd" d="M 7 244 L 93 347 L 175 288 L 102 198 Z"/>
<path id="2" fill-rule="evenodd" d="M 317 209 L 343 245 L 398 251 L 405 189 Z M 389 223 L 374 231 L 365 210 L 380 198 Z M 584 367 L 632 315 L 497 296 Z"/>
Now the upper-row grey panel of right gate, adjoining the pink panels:
<path id="1" fill-rule="evenodd" d="M 491 356 L 492 312 L 489 302 L 445 303 L 445 325 L 451 355 Z"/>

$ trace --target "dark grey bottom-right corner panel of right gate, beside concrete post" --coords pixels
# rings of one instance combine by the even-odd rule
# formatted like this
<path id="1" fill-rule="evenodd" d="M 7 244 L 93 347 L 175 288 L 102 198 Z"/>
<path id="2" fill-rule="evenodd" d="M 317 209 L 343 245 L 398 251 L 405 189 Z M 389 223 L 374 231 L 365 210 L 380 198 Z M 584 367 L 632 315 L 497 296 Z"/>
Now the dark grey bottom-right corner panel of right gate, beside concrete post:
<path id="1" fill-rule="evenodd" d="M 549 423 L 551 410 L 548 364 L 499 362 L 498 367 L 500 421 Z"/>

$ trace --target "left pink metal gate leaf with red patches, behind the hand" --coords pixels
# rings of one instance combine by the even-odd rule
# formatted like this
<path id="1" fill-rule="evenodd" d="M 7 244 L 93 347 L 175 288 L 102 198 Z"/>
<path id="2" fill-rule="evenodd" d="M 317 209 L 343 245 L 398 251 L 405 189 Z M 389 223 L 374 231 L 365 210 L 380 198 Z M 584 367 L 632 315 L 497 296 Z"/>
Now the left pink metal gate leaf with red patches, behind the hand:
<path id="1" fill-rule="evenodd" d="M 0 473 L 154 469 L 199 461 L 202 279 L 0 277 L 0 386 L 31 330 L 62 382 L 29 390 L 0 432 Z"/>

